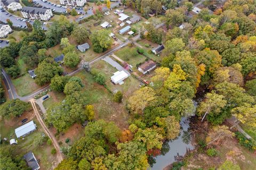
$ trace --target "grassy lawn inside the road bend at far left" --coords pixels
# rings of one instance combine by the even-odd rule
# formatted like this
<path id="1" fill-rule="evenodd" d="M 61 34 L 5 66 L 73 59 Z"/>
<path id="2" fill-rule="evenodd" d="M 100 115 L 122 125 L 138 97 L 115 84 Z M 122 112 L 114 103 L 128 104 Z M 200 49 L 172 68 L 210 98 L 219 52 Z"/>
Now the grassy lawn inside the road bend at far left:
<path id="1" fill-rule="evenodd" d="M 40 86 L 35 83 L 35 80 L 29 77 L 28 73 L 17 79 L 13 79 L 12 83 L 14 84 L 19 96 L 26 96 L 40 88 Z"/>

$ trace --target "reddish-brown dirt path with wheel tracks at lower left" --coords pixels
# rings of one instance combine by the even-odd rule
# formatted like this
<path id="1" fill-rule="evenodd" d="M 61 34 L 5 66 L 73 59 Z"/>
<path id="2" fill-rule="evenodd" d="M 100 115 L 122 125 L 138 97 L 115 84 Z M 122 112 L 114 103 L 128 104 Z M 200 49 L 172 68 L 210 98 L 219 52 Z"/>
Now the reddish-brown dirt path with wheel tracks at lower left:
<path id="1" fill-rule="evenodd" d="M 41 124 L 42 128 L 44 129 L 45 133 L 49 136 L 49 138 L 52 140 L 52 143 L 53 143 L 53 146 L 54 148 L 56 149 L 57 151 L 57 161 L 58 161 L 58 164 L 63 160 L 63 156 L 60 152 L 60 146 L 59 146 L 59 143 L 58 141 L 56 140 L 56 138 L 54 137 L 54 135 L 47 129 L 46 125 L 44 124 L 44 121 L 42 120 L 39 112 L 37 111 L 37 108 L 36 108 L 36 101 L 35 99 L 30 99 L 29 100 L 33 109 L 34 109 L 34 112 L 35 112 L 35 115 L 36 115 L 36 118 L 38 120 L 38 122 Z M 58 165 L 57 164 L 57 165 Z M 55 165 L 55 166 L 57 166 Z"/>

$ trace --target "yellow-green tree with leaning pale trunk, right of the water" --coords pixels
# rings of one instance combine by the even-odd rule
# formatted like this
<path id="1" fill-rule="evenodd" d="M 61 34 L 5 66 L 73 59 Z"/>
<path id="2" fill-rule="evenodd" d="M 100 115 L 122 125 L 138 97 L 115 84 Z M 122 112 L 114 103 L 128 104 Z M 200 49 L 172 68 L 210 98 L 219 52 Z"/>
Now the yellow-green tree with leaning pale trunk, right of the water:
<path id="1" fill-rule="evenodd" d="M 204 115 L 202 118 L 203 121 L 207 114 L 212 116 L 221 114 L 226 104 L 227 101 L 224 99 L 224 96 L 215 93 L 207 93 L 205 100 L 200 103 L 197 111 L 199 115 Z"/>

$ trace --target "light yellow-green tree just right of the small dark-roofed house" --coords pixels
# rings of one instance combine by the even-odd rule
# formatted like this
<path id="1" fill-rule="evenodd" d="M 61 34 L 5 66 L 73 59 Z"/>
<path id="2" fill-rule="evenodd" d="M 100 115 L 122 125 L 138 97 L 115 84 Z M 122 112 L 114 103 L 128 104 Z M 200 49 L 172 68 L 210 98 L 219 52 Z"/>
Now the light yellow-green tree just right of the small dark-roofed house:
<path id="1" fill-rule="evenodd" d="M 173 38 L 172 40 L 165 42 L 163 53 L 165 56 L 169 56 L 170 54 L 175 54 L 176 52 L 182 50 L 184 47 L 185 43 L 183 43 L 181 38 Z"/>

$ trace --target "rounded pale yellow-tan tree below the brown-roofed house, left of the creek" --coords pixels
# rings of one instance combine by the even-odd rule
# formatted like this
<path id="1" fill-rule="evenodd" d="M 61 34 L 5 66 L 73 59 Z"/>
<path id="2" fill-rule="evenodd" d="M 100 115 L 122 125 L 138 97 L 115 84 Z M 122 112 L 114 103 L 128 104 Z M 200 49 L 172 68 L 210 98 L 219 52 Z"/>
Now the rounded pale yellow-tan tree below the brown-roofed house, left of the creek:
<path id="1" fill-rule="evenodd" d="M 128 107 L 131 111 L 143 115 L 145 107 L 154 104 L 155 100 L 154 90 L 150 87 L 143 87 L 133 92 L 133 95 L 128 99 Z"/>

